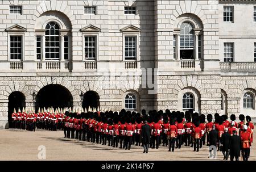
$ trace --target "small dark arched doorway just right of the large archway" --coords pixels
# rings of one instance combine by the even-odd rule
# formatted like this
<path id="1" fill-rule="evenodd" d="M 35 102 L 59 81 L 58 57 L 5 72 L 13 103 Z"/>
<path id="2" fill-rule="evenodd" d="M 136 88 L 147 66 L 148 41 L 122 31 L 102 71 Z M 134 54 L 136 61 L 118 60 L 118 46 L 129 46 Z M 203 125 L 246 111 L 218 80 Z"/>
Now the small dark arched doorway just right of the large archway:
<path id="1" fill-rule="evenodd" d="M 88 107 L 99 107 L 100 106 L 100 97 L 95 91 L 86 91 L 84 94 L 84 100 L 82 101 L 82 108 Z"/>

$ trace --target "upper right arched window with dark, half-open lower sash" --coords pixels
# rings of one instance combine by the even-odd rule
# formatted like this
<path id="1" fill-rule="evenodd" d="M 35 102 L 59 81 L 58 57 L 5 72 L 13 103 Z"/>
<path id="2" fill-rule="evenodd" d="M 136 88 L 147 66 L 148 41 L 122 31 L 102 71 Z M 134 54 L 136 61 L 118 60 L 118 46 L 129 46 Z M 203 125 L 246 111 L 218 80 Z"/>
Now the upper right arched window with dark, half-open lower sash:
<path id="1" fill-rule="evenodd" d="M 193 24 L 183 22 L 180 26 L 180 58 L 193 59 L 194 57 L 194 31 Z"/>

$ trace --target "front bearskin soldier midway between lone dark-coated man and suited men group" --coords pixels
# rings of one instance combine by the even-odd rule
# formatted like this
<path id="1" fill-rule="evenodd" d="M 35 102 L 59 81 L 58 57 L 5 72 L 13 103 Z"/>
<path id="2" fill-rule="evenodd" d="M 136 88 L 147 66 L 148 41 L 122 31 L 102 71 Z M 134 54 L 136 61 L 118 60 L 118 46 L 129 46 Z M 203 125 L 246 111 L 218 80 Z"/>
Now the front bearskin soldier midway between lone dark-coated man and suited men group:
<path id="1" fill-rule="evenodd" d="M 168 128 L 168 141 L 169 141 L 169 152 L 174 152 L 175 140 L 177 138 L 177 126 L 175 125 L 175 119 L 170 118 L 170 125 Z"/>

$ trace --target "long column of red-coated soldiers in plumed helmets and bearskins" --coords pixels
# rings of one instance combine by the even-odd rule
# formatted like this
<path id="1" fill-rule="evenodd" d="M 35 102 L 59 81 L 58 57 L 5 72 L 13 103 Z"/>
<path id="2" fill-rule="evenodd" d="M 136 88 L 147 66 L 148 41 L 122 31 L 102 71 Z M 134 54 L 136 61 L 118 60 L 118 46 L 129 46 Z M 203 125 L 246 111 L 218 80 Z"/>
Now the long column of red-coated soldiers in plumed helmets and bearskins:
<path id="1" fill-rule="evenodd" d="M 193 151 L 199 152 L 203 145 L 216 146 L 217 151 L 221 150 L 224 159 L 230 160 L 235 157 L 238 160 L 240 151 L 243 160 L 250 157 L 250 148 L 253 142 L 254 125 L 251 123 L 250 116 L 240 115 L 240 122 L 236 123 L 236 116 L 230 115 L 230 121 L 227 115 L 208 114 L 205 121 L 205 115 L 193 113 L 192 111 L 180 112 L 162 110 L 152 110 L 146 114 L 121 110 L 113 112 L 99 108 L 88 108 L 88 111 L 73 110 L 71 108 L 46 108 L 38 110 L 38 113 L 32 109 L 18 113 L 14 110 L 12 114 L 13 128 L 27 129 L 35 131 L 38 129 L 47 129 L 64 131 L 64 137 L 68 139 L 78 139 L 82 141 L 93 142 L 113 146 L 120 149 L 130 149 L 131 145 L 141 146 L 143 138 L 141 136 L 142 127 L 146 124 L 151 127 L 150 148 L 158 149 L 160 144 L 168 146 L 168 151 L 174 152 L 180 149 L 181 145 L 190 146 Z M 212 133 L 217 133 L 214 139 Z M 240 141 L 237 145 L 226 144 L 226 135 L 239 136 Z M 223 137 L 222 137 L 223 136 Z M 225 138 L 224 138 L 225 136 Z M 175 147 L 176 143 L 176 147 Z M 211 151 L 211 150 L 210 150 Z"/>

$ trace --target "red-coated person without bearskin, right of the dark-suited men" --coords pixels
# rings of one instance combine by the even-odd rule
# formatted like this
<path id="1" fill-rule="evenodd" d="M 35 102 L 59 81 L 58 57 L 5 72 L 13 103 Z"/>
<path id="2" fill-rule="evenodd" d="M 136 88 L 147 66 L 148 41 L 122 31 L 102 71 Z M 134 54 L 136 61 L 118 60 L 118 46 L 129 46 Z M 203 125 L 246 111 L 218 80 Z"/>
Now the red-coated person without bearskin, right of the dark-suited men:
<path id="1" fill-rule="evenodd" d="M 249 152 L 251 147 L 251 133 L 247 132 L 247 125 L 243 125 L 243 131 L 241 132 L 242 141 L 242 157 L 243 161 L 248 161 Z"/>

